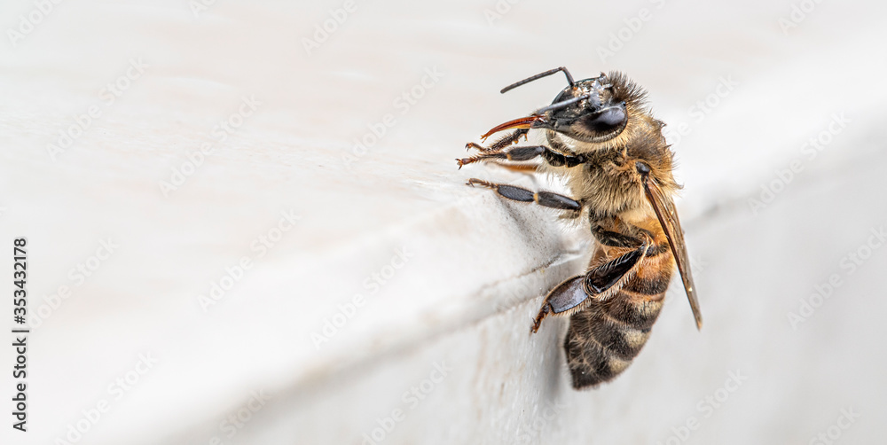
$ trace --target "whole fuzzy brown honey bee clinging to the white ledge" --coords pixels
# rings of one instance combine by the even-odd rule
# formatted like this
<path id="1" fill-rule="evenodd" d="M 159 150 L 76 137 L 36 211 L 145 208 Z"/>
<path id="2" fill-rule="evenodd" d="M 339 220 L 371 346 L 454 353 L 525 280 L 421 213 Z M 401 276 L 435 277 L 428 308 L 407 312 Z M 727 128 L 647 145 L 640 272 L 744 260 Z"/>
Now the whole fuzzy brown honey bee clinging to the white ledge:
<path id="1" fill-rule="evenodd" d="M 468 143 L 467 149 L 479 153 L 457 163 L 462 168 L 494 161 L 561 176 L 571 196 L 479 179 L 467 184 L 558 209 L 566 218 L 587 211 L 597 241 L 588 269 L 546 295 L 531 328 L 537 332 L 549 315 L 569 316 L 563 347 L 573 387 L 580 389 L 614 379 L 632 363 L 663 307 L 675 264 L 697 329 L 703 318 L 672 200 L 680 189 L 671 175 L 674 155 L 665 143 L 663 122 L 646 105 L 646 91 L 618 72 L 574 82 L 561 66 L 501 92 L 558 72 L 566 74 L 569 85 L 551 105 L 491 129 L 482 142 L 494 133 L 514 131 L 488 147 Z M 513 146 L 531 129 L 544 130 L 547 144 Z M 538 164 L 522 163 L 538 159 Z"/>

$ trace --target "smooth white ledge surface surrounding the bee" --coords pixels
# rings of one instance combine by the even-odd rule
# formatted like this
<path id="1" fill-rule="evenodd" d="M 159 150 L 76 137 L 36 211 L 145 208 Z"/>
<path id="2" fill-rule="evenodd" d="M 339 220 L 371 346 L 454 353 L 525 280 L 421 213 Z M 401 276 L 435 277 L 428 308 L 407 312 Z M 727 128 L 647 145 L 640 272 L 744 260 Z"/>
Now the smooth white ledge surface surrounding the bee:
<path id="1" fill-rule="evenodd" d="M 55 443 L 102 399 L 78 443 L 360 443 L 395 409 L 405 418 L 385 443 L 669 443 L 690 416 L 686 443 L 807 443 L 847 407 L 862 417 L 841 441 L 878 441 L 887 257 L 852 276 L 841 261 L 887 222 L 883 4 L 823 2 L 789 35 L 789 2 L 525 2 L 490 24 L 494 5 L 358 3 L 310 56 L 302 38 L 341 4 L 220 0 L 195 17 L 187 2 L 66 2 L 5 42 L 0 232 L 28 238 L 32 311 L 61 285 L 72 295 L 28 340 L 29 431 L 5 417 L 0 441 Z M 18 27 L 34 5 L 0 8 Z M 652 19 L 601 63 L 596 48 L 641 8 Z M 130 59 L 145 74 L 106 105 Z M 691 129 L 672 142 L 703 332 L 673 285 L 644 352 L 592 392 L 569 388 L 566 320 L 527 335 L 538 295 L 583 268 L 582 231 L 463 185 L 514 176 L 453 162 L 563 80 L 502 86 L 561 65 L 624 70 L 660 118 Z M 396 98 L 435 67 L 443 77 L 402 113 Z M 722 76 L 738 85 L 696 121 L 690 107 Z M 251 96 L 255 114 L 164 197 L 171 168 Z M 90 105 L 102 117 L 51 160 L 46 145 Z M 348 167 L 352 140 L 386 113 L 396 123 Z M 808 159 L 802 144 L 833 113 L 852 121 Z M 747 199 L 795 159 L 804 171 L 753 213 Z M 290 211 L 301 219 L 259 257 L 252 243 Z M 77 285 L 69 269 L 106 238 L 120 247 Z M 365 280 L 404 247 L 414 256 L 372 293 Z M 199 295 L 243 256 L 255 266 L 204 312 Z M 844 285 L 793 330 L 786 314 L 833 273 Z M 315 347 L 356 293 L 365 305 Z M 108 386 L 139 354 L 157 363 L 116 400 Z M 9 369 L 12 349 L 0 359 Z M 412 409 L 402 394 L 442 362 L 448 376 Z M 698 403 L 735 370 L 748 380 L 704 417 Z M 255 391 L 271 402 L 226 437 Z"/>

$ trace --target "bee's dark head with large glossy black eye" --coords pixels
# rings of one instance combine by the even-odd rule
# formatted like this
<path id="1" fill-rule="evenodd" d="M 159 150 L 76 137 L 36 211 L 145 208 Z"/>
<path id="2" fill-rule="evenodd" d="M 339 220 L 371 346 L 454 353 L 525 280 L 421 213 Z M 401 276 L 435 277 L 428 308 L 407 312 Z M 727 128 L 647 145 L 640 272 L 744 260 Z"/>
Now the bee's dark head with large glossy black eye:
<path id="1" fill-rule="evenodd" d="M 620 79 L 621 80 L 621 79 Z M 585 79 L 561 91 L 552 105 L 537 110 L 547 127 L 583 142 L 600 143 L 619 136 L 628 123 L 624 98 L 606 74 Z"/>

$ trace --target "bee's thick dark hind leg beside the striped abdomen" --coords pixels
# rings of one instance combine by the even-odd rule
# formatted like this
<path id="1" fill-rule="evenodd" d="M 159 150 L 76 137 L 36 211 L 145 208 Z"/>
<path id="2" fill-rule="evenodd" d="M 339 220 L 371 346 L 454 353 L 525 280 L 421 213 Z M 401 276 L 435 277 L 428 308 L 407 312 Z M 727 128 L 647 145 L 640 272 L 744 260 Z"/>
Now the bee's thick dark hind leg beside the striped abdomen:
<path id="1" fill-rule="evenodd" d="M 530 332 L 537 332 L 542 320 L 549 315 L 561 314 L 564 312 L 573 313 L 571 310 L 579 307 L 588 299 L 598 301 L 606 301 L 613 289 L 620 281 L 624 281 L 632 269 L 647 254 L 648 244 L 642 246 L 627 254 L 601 264 L 600 266 L 589 270 L 585 275 L 568 278 L 561 282 L 546 295 L 542 308 L 539 309 L 537 316 L 533 319 L 533 326 Z"/>

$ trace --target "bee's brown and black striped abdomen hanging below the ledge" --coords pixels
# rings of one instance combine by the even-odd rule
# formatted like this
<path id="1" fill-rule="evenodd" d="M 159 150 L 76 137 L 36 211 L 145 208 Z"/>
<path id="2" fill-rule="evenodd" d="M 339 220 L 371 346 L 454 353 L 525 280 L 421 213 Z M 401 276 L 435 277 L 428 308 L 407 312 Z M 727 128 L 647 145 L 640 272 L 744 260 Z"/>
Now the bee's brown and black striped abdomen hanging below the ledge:
<path id="1" fill-rule="evenodd" d="M 635 276 L 616 295 L 602 303 L 592 301 L 569 317 L 563 347 L 573 387 L 594 386 L 615 378 L 647 343 L 674 268 L 668 241 L 656 238 L 656 246 L 641 260 Z M 592 264 L 608 262 L 629 250 L 599 244 Z"/>

